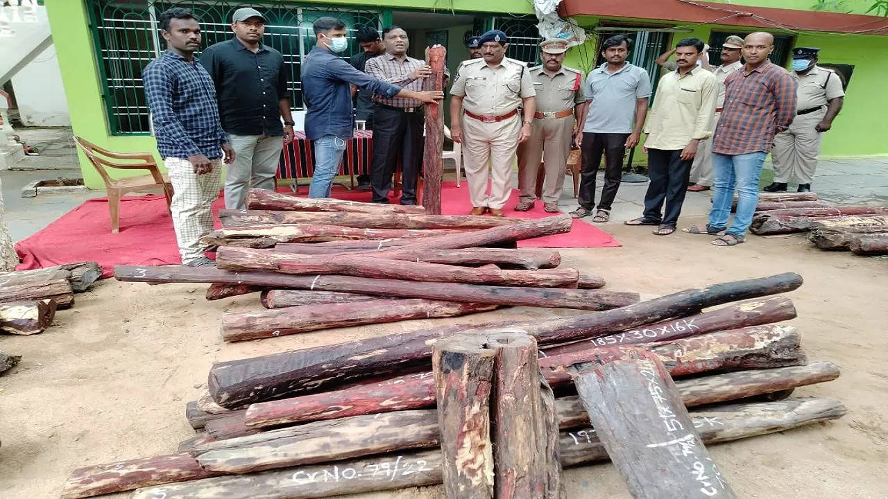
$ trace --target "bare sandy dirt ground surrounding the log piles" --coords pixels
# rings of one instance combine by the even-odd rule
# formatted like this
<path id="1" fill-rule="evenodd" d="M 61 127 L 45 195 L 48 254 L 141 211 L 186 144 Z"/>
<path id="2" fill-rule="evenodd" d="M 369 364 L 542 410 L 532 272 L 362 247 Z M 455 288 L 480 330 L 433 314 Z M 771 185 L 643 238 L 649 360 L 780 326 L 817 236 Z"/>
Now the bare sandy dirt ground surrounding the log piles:
<path id="1" fill-rule="evenodd" d="M 702 219 L 686 218 L 683 223 Z M 797 396 L 842 400 L 844 418 L 789 432 L 714 446 L 712 453 L 742 497 L 888 497 L 888 260 L 828 253 L 798 235 L 748 238 L 716 248 L 708 237 L 655 237 L 644 227 L 607 227 L 624 246 L 566 249 L 564 265 L 603 275 L 608 287 L 654 297 L 710 283 L 797 272 L 805 285 L 790 294 L 812 360 L 832 360 L 842 376 L 797 389 Z M 58 497 L 78 466 L 165 454 L 193 435 L 186 401 L 206 383 L 210 363 L 336 343 L 445 323 L 408 321 L 327 330 L 223 345 L 221 312 L 258 306 L 255 295 L 216 302 L 206 285 L 148 286 L 113 280 L 77 295 L 56 324 L 34 337 L 0 337 L 0 349 L 22 355 L 0 377 L 0 497 Z M 514 308 L 450 320 L 526 319 L 551 313 Z M 613 466 L 566 473 L 567 497 L 628 497 Z M 109 495 L 107 497 L 125 497 Z M 442 498 L 440 487 L 353 497 Z"/>

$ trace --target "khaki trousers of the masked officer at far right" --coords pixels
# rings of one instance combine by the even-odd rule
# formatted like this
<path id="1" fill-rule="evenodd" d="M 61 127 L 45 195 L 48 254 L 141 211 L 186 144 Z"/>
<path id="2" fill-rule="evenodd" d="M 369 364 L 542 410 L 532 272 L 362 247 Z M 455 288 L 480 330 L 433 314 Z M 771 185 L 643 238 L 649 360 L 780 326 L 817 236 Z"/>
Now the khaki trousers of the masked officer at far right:
<path id="1" fill-rule="evenodd" d="M 823 142 L 823 134 L 814 130 L 814 127 L 821 123 L 826 113 L 824 107 L 820 111 L 796 116 L 789 125 L 789 130 L 774 136 L 774 147 L 771 150 L 774 182 L 811 183 Z"/>

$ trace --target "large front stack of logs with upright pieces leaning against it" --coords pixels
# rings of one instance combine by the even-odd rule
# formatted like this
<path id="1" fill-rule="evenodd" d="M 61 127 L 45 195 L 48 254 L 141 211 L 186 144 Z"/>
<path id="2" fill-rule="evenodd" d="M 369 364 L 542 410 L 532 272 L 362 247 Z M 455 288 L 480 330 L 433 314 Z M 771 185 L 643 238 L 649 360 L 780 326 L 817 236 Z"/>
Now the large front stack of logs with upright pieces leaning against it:
<path id="1" fill-rule="evenodd" d="M 198 433 L 178 452 L 75 470 L 62 497 L 298 499 L 440 483 L 461 499 L 559 497 L 561 467 L 608 458 L 636 496 L 733 497 L 704 444 L 846 412 L 788 398 L 839 375 L 778 324 L 796 316 L 779 293 L 801 284 L 786 273 L 218 362 L 212 402 L 186 407 Z"/>

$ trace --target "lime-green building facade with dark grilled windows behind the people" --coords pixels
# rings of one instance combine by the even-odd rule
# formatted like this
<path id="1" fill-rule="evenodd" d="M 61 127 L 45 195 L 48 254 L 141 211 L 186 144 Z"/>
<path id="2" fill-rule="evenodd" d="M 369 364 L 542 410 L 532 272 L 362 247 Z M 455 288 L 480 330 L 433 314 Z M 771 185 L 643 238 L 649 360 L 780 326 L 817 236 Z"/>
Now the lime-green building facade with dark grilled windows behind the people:
<path id="1" fill-rule="evenodd" d="M 888 19 L 835 12 L 815 12 L 814 0 L 768 2 L 742 0 L 746 5 L 688 0 L 563 0 L 562 17 L 587 32 L 585 44 L 569 54 L 567 65 L 588 71 L 598 62 L 598 46 L 611 34 L 631 33 L 636 40 L 631 60 L 647 67 L 685 36 L 697 36 L 718 47 L 728 35 L 766 30 L 777 36 L 774 61 L 786 65 L 793 46 L 819 46 L 821 63 L 847 75 L 842 114 L 824 139 L 823 155 L 888 155 L 888 124 L 882 115 L 888 99 L 879 92 L 888 74 Z M 191 8 L 202 21 L 204 44 L 232 36 L 231 13 L 242 2 L 227 0 L 46 0 L 52 37 L 58 53 L 68 112 L 74 133 L 110 150 L 154 151 L 150 119 L 141 86 L 141 69 L 163 51 L 156 16 L 170 6 Z M 289 70 L 292 103 L 297 116 L 304 110 L 299 71 L 314 43 L 312 22 L 324 15 L 344 20 L 350 30 L 363 25 L 382 28 L 397 24 L 408 31 L 411 55 L 422 58 L 426 44 L 448 47 L 448 66 L 456 70 L 467 57 L 467 36 L 490 28 L 511 36 L 508 55 L 535 63 L 536 31 L 533 5 L 526 0 L 369 0 L 250 2 L 268 22 L 264 43 L 284 54 Z M 774 9 L 766 4 L 781 4 Z M 841 3 L 844 10 L 865 12 L 867 0 Z M 643 16 L 643 17 L 642 17 Z M 352 40 L 345 57 L 360 50 Z M 718 49 L 710 57 L 718 60 Z M 81 158 L 87 186 L 102 186 L 98 174 Z"/>

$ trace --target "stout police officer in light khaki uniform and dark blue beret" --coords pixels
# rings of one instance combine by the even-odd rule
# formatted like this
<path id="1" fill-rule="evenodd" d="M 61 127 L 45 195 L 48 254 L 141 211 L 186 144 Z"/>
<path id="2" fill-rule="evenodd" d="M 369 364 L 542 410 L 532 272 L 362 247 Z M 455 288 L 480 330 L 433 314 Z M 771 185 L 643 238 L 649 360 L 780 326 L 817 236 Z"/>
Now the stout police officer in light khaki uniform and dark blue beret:
<path id="1" fill-rule="evenodd" d="M 536 111 L 527 67 L 505 57 L 508 38 L 493 29 L 481 36 L 483 59 L 464 61 L 450 89 L 450 135 L 463 144 L 472 215 L 503 216 L 519 142 L 530 136 Z M 524 108 L 522 121 L 518 107 Z M 491 161 L 488 196 L 488 160 Z"/>

